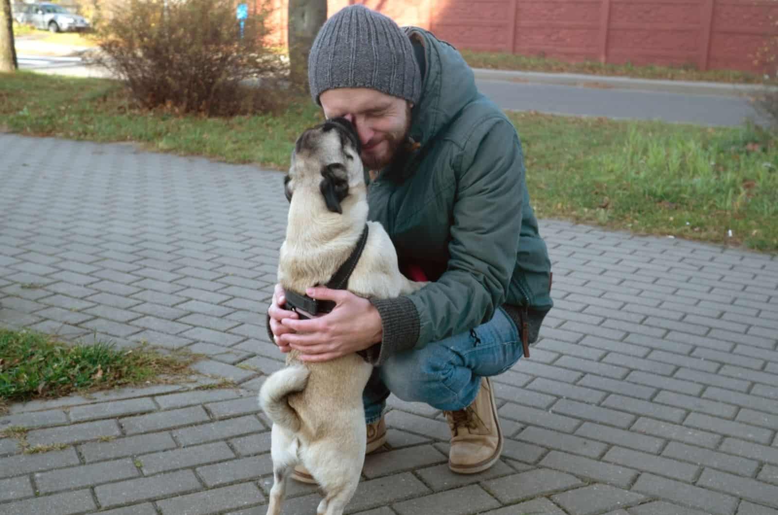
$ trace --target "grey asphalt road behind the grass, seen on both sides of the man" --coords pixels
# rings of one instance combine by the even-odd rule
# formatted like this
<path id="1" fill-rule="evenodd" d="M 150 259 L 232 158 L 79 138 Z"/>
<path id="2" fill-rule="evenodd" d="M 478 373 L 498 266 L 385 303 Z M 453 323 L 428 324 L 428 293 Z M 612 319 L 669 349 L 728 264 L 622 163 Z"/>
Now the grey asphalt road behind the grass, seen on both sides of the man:
<path id="1" fill-rule="evenodd" d="M 78 57 L 20 54 L 20 68 L 61 75 L 105 76 L 83 66 Z M 701 125 L 735 126 L 759 121 L 745 96 L 667 93 L 640 89 L 562 86 L 532 82 L 477 79 L 478 88 L 503 109 L 541 113 L 661 120 Z"/>

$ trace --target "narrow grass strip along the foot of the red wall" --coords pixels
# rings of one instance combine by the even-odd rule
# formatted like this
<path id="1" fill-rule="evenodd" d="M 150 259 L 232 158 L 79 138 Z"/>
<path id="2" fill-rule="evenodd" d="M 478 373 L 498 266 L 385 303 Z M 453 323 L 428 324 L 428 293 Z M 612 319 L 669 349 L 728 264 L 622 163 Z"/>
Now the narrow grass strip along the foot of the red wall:
<path id="1" fill-rule="evenodd" d="M 759 75 L 736 70 L 699 71 L 694 65 L 658 66 L 631 64 L 615 65 L 599 61 L 565 62 L 554 58 L 508 54 L 507 52 L 461 51 L 465 61 L 473 68 L 520 70 L 523 72 L 584 73 L 588 75 L 617 75 L 637 79 L 673 79 L 710 82 L 762 82 Z"/>

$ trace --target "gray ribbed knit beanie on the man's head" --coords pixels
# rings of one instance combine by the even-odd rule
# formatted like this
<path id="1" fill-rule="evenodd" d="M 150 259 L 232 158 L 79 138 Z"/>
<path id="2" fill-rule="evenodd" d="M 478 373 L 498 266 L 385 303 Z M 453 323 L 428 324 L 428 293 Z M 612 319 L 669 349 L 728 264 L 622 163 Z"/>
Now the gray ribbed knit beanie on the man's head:
<path id="1" fill-rule="evenodd" d="M 319 30 L 308 55 L 308 83 L 316 103 L 333 88 L 377 89 L 412 103 L 422 93 L 411 40 L 392 19 L 359 4 L 336 12 Z"/>

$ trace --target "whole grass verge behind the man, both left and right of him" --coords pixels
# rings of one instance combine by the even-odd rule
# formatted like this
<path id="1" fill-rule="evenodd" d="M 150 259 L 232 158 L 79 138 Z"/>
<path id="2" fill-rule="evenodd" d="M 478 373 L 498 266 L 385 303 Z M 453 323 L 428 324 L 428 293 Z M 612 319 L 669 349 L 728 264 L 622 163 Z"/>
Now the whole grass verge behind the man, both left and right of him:
<path id="1" fill-rule="evenodd" d="M 136 110 L 113 81 L 0 75 L 0 128 L 142 142 L 279 170 L 289 166 L 296 137 L 320 117 L 307 97 L 287 99 L 275 114 L 208 119 Z M 766 131 L 537 113 L 510 118 L 541 217 L 778 251 L 778 142 Z"/>

